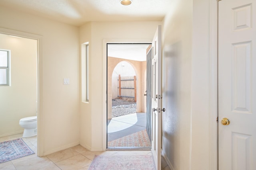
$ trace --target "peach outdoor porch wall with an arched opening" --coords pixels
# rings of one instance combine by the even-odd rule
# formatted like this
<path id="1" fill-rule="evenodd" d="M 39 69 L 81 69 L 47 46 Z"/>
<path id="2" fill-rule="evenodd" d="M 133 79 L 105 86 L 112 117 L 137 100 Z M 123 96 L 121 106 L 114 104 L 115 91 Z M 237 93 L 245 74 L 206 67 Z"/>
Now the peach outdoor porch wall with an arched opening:
<path id="1" fill-rule="evenodd" d="M 144 103 L 146 102 L 146 97 L 144 97 L 144 93 L 146 89 L 144 89 L 146 82 L 144 81 L 145 77 L 145 70 L 146 70 L 146 62 L 143 61 L 134 61 L 134 60 L 127 60 L 127 59 L 120 59 L 114 57 L 108 57 L 108 119 L 112 118 L 112 73 L 116 64 L 120 63 L 121 61 L 126 61 L 130 63 L 135 72 L 137 78 L 137 102 L 136 102 L 136 112 L 145 112 L 146 108 L 144 107 Z"/>

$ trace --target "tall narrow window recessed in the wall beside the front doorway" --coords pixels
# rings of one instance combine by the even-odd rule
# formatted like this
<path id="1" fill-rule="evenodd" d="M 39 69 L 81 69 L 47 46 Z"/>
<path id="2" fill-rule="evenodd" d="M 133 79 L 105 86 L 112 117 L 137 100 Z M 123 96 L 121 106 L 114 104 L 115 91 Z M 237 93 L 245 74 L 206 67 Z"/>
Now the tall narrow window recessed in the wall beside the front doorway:
<path id="1" fill-rule="evenodd" d="M 89 43 L 81 47 L 82 102 L 89 102 Z"/>

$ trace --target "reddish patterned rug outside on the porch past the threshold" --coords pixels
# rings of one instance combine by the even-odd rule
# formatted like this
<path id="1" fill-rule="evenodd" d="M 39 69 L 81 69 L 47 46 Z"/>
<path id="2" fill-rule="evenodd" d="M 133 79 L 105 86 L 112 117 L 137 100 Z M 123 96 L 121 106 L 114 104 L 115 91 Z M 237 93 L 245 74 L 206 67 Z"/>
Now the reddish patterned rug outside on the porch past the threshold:
<path id="1" fill-rule="evenodd" d="M 108 147 L 151 147 L 151 142 L 145 129 L 114 141 L 109 141 Z"/>

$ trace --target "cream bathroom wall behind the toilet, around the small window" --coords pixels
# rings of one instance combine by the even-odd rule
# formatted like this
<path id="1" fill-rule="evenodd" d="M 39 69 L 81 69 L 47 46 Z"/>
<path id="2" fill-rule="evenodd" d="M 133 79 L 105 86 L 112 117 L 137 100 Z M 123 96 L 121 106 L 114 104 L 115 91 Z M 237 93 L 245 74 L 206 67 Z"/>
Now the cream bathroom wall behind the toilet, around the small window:
<path id="1" fill-rule="evenodd" d="M 0 34 L 10 50 L 11 86 L 0 86 L 0 137 L 23 133 L 19 120 L 37 114 L 37 40 Z"/>

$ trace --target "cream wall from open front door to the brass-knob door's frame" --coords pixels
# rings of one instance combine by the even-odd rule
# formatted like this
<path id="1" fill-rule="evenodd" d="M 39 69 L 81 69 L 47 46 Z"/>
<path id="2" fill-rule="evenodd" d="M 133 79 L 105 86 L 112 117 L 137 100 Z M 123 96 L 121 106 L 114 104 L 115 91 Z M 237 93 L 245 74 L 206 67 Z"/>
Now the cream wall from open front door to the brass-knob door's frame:
<path id="1" fill-rule="evenodd" d="M 174 0 L 164 19 L 162 149 L 174 170 L 217 169 L 210 96 L 216 3 Z"/>

